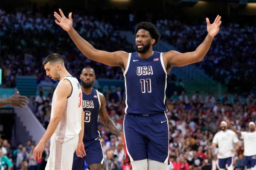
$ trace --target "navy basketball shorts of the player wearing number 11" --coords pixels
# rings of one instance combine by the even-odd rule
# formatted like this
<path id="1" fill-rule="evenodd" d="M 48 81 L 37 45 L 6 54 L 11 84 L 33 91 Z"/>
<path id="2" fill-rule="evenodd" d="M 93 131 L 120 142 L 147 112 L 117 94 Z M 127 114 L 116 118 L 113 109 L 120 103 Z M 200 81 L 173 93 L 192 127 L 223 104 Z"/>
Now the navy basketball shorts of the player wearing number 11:
<path id="1" fill-rule="evenodd" d="M 126 154 L 130 161 L 151 159 L 168 163 L 169 126 L 165 113 L 126 114 L 124 118 Z M 125 162 L 127 162 L 127 155 Z"/>

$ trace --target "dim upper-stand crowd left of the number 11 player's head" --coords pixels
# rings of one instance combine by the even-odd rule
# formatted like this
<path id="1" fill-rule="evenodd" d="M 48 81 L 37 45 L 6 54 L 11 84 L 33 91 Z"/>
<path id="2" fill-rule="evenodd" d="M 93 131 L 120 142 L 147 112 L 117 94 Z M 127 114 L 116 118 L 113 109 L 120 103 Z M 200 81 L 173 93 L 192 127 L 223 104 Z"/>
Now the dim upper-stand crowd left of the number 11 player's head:
<path id="1" fill-rule="evenodd" d="M 96 49 L 134 51 L 126 38 L 115 32 L 108 22 L 73 14 L 73 26 Z M 0 40 L 3 87 L 15 87 L 16 77 L 20 75 L 34 75 L 38 82 L 44 80 L 42 61 L 54 52 L 65 58 L 66 68 L 73 76 L 79 77 L 84 66 L 91 66 L 96 69 L 97 78 L 123 79 L 119 67 L 105 66 L 85 58 L 67 32 L 55 24 L 53 14 L 44 16 L 29 10 L 6 13 L 0 9 Z"/>

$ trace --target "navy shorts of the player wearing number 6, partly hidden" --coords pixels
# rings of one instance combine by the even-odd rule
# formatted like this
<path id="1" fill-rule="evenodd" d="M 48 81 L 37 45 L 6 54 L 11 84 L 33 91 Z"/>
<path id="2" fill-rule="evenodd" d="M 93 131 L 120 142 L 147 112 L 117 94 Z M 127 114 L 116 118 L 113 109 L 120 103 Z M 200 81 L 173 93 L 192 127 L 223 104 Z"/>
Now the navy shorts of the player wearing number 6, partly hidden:
<path id="1" fill-rule="evenodd" d="M 104 156 L 100 138 L 84 141 L 84 149 L 86 152 L 84 158 L 80 158 L 76 156 L 76 152 L 74 153 L 72 170 L 84 170 L 84 161 L 88 166 L 91 164 L 103 164 Z"/>

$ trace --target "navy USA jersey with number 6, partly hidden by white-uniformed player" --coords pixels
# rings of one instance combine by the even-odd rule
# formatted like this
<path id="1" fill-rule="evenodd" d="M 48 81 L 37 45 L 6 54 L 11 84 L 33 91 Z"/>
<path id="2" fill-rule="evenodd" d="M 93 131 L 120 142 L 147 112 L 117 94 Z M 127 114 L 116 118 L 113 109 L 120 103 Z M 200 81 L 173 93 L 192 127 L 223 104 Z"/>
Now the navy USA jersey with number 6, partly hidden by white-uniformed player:
<path id="1" fill-rule="evenodd" d="M 83 141 L 89 141 L 99 137 L 98 132 L 98 115 L 101 106 L 99 92 L 93 89 L 87 95 L 83 93 L 83 110 L 84 110 L 84 138 Z"/>

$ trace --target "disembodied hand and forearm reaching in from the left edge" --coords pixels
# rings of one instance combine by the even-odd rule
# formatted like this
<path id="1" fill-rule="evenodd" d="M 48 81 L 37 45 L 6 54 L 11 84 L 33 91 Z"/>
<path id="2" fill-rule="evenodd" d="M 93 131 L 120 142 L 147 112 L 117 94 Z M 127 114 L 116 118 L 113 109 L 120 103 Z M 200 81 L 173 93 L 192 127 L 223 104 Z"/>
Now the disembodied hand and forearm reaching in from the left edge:
<path id="1" fill-rule="evenodd" d="M 29 103 L 26 99 L 26 96 L 19 95 L 19 92 L 16 92 L 10 98 L 0 98 L 0 107 L 11 105 L 13 107 L 20 107 L 20 109 L 23 109 L 23 107 Z"/>

